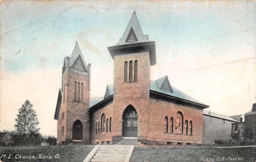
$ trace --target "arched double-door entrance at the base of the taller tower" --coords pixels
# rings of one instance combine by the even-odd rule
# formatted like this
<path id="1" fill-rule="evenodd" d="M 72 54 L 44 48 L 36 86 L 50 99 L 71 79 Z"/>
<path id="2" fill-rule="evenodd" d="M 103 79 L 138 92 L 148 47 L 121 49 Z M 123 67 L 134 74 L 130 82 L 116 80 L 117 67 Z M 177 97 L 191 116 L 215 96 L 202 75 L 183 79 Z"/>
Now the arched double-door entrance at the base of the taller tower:
<path id="1" fill-rule="evenodd" d="M 137 137 L 138 135 L 138 114 L 133 106 L 125 108 L 122 115 L 122 135 L 123 137 Z"/>

